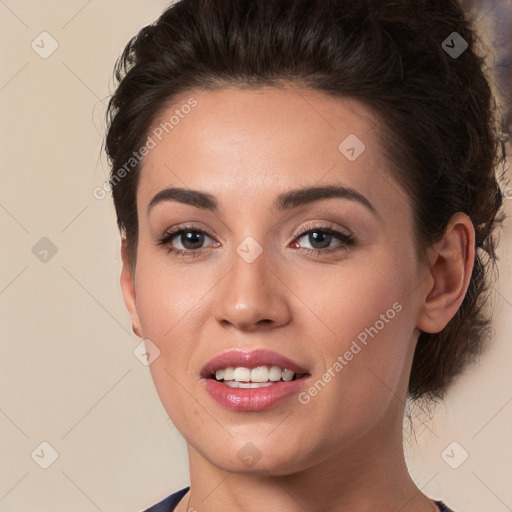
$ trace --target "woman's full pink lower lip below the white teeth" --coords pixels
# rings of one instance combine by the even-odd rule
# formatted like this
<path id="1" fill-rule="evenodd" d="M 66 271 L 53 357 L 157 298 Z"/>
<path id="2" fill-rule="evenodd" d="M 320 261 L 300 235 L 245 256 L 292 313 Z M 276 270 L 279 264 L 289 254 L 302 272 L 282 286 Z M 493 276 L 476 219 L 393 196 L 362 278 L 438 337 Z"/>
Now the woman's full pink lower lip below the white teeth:
<path id="1" fill-rule="evenodd" d="M 275 407 L 298 393 L 304 387 L 307 377 L 290 382 L 277 382 L 263 388 L 230 388 L 215 379 L 204 379 L 210 396 L 220 405 L 232 411 L 256 412 Z"/>

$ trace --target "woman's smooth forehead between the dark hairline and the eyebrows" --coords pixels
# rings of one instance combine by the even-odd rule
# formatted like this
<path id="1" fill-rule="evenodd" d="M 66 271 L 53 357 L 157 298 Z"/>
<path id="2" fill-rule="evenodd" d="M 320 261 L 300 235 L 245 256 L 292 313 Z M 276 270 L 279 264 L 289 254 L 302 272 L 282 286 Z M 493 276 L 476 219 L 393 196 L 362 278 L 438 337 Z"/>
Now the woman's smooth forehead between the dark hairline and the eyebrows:
<path id="1" fill-rule="evenodd" d="M 138 203 L 166 187 L 204 190 L 221 203 L 334 182 L 368 195 L 397 192 L 378 129 L 360 103 L 319 91 L 190 91 L 148 133 L 154 147 L 142 163 Z"/>

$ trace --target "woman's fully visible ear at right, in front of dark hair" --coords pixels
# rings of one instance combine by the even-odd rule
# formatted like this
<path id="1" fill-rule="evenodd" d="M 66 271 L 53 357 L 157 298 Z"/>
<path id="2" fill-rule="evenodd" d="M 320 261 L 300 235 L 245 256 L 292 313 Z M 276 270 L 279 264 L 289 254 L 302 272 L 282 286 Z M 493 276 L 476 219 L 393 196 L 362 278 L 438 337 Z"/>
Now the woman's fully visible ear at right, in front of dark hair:
<path id="1" fill-rule="evenodd" d="M 441 240 L 429 250 L 430 275 L 422 294 L 417 327 L 442 331 L 459 309 L 475 262 L 475 229 L 464 213 L 456 213 Z"/>

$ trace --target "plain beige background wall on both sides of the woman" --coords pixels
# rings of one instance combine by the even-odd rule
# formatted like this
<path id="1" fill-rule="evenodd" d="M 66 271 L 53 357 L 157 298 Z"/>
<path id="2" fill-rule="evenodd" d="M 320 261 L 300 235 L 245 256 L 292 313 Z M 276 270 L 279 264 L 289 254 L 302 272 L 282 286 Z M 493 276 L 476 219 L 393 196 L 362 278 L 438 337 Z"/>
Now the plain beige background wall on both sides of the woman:
<path id="1" fill-rule="evenodd" d="M 113 206 L 93 197 L 115 59 L 167 4 L 0 0 L 3 512 L 136 512 L 188 484 L 184 441 L 133 354 Z M 44 31 L 58 43 L 46 59 L 31 47 L 51 48 Z M 495 343 L 405 441 L 419 487 L 456 512 L 512 510 L 510 224 Z M 442 457 L 454 441 L 452 464 L 469 454 L 458 469 Z"/>

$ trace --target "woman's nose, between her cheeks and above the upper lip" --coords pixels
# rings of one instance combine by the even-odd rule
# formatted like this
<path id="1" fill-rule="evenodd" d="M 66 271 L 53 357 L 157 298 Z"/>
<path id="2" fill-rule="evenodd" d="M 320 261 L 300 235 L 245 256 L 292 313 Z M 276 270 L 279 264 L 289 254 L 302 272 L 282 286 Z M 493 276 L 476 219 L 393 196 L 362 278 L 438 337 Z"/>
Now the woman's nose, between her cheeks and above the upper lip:
<path id="1" fill-rule="evenodd" d="M 214 316 L 219 323 L 247 332 L 290 321 L 291 291 L 279 270 L 282 266 L 271 260 L 266 250 L 252 262 L 233 251 L 232 268 L 217 292 Z"/>

